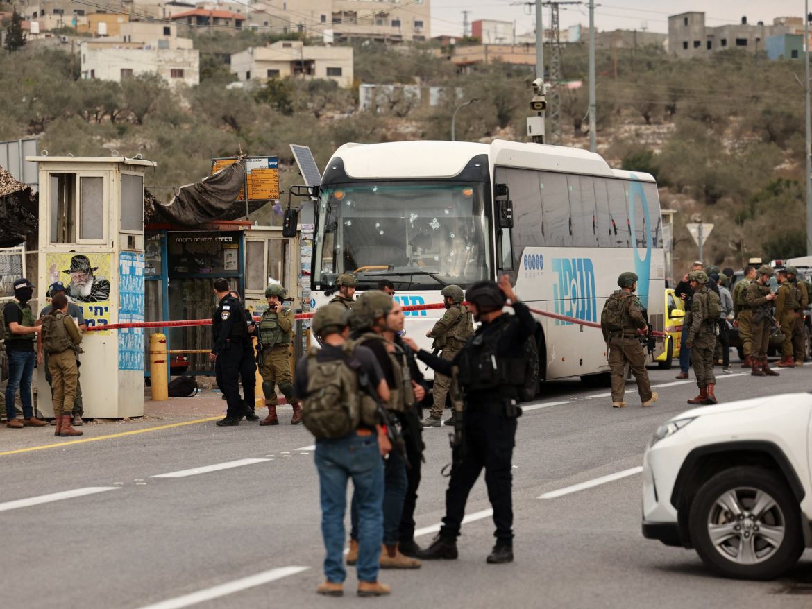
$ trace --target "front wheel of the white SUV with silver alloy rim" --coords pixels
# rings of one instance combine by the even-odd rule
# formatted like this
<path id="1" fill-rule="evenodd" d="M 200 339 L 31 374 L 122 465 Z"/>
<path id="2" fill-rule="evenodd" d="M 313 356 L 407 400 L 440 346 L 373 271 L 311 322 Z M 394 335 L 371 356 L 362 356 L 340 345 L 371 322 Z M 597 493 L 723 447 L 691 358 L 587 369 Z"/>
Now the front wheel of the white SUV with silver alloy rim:
<path id="1" fill-rule="evenodd" d="M 699 489 L 690 508 L 699 556 L 726 577 L 767 580 L 804 551 L 798 502 L 767 469 L 726 469 Z"/>

